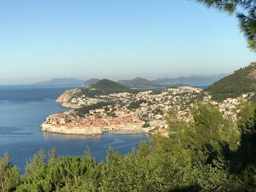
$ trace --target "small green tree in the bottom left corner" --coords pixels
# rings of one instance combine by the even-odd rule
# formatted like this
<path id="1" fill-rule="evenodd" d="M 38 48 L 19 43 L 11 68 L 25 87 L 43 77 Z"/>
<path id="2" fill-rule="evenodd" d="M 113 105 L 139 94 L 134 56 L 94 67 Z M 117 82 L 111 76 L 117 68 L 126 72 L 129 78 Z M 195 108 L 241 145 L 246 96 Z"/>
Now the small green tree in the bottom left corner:
<path id="1" fill-rule="evenodd" d="M 9 154 L 5 153 L 3 158 L 0 158 L 0 191 L 15 191 L 20 181 L 21 176 L 18 167 L 12 166 Z"/>

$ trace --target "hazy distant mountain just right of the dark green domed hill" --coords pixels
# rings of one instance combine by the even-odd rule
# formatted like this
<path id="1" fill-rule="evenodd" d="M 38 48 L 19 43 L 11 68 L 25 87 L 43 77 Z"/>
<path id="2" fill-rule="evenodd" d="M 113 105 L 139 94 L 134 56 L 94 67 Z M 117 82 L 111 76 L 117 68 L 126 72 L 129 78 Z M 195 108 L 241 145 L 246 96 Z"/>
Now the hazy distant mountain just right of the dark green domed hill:
<path id="1" fill-rule="evenodd" d="M 129 88 L 155 88 L 162 87 L 159 83 L 155 83 L 140 77 L 136 77 L 134 80 L 118 80 L 121 85 L 125 85 Z"/>

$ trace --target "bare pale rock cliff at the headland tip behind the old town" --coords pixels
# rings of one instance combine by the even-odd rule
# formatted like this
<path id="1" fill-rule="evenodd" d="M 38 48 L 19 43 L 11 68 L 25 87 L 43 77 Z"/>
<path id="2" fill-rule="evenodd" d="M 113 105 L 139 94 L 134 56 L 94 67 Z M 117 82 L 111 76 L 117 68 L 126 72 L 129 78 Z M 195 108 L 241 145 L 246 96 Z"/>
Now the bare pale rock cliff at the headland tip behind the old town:
<path id="1" fill-rule="evenodd" d="M 80 91 L 81 90 L 78 88 L 64 91 L 64 93 L 62 93 L 61 96 L 59 96 L 59 98 L 56 99 L 56 103 L 61 104 L 61 106 L 63 107 L 77 109 L 79 108 L 78 105 L 72 104 L 70 101 L 72 99 L 72 96 L 74 96 L 76 93 L 80 93 Z"/>

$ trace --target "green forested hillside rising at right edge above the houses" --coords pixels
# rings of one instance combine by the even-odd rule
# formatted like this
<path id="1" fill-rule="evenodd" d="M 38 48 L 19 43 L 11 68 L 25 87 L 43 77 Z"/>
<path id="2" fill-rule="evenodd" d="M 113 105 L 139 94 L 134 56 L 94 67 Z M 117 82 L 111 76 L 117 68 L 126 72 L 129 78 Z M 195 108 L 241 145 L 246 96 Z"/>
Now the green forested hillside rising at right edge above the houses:
<path id="1" fill-rule="evenodd" d="M 222 78 L 205 91 L 217 101 L 235 98 L 243 93 L 256 92 L 256 62 Z"/>

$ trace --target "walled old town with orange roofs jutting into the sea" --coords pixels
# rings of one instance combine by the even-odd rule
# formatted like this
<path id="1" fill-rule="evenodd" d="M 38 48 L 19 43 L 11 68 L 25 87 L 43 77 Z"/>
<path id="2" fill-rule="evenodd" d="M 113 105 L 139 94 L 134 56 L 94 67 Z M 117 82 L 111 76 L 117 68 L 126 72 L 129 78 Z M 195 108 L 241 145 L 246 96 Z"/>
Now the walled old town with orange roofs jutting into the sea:
<path id="1" fill-rule="evenodd" d="M 83 133 L 91 134 L 90 130 L 97 134 L 112 132 L 115 134 L 138 134 L 146 132 L 143 128 L 145 122 L 132 118 L 132 115 L 117 118 L 80 118 L 72 112 L 61 112 L 48 116 L 42 124 L 43 131 L 65 133 L 63 130 L 71 130 L 72 134 L 80 134 L 81 129 L 87 130 Z"/>

